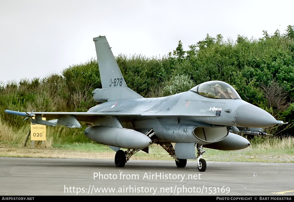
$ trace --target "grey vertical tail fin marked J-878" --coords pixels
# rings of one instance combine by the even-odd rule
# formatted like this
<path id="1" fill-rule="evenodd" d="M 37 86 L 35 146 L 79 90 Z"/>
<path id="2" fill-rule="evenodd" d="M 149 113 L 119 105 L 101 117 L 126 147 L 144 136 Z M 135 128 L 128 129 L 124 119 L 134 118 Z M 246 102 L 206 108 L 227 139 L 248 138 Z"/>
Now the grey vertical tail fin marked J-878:
<path id="1" fill-rule="evenodd" d="M 102 88 L 127 87 L 105 36 L 93 38 Z"/>

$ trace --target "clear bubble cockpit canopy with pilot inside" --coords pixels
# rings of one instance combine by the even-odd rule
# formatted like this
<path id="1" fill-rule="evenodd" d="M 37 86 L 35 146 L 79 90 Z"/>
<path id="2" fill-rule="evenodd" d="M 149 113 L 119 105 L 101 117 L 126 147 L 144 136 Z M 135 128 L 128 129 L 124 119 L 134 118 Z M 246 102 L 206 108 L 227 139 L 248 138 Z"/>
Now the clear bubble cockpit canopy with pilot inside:
<path id="1" fill-rule="evenodd" d="M 216 99 L 241 99 L 237 91 L 222 81 L 208 81 L 193 87 L 190 91 L 204 97 Z"/>

